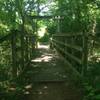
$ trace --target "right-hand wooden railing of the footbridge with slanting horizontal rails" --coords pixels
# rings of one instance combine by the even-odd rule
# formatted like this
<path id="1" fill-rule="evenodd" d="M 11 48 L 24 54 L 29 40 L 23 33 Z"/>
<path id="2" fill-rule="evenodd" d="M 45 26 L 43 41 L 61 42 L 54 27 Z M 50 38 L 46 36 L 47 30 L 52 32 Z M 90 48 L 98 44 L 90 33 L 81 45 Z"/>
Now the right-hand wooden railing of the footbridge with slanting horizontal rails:
<path id="1" fill-rule="evenodd" d="M 79 74 L 87 71 L 88 45 L 84 34 L 54 34 L 52 45 Z"/>

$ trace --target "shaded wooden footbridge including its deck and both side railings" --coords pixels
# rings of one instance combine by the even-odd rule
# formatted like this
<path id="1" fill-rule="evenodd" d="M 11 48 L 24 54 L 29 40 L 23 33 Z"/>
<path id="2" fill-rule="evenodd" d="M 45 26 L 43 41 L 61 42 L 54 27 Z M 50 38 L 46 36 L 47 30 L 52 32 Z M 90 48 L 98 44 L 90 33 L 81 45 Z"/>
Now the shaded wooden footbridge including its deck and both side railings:
<path id="1" fill-rule="evenodd" d="M 87 36 L 84 33 L 54 34 L 50 48 L 36 48 L 35 41 L 34 35 L 23 36 L 17 30 L 0 38 L 0 46 L 10 51 L 6 61 L 6 66 L 11 66 L 8 70 L 9 78 L 23 81 L 23 92 L 11 98 L 82 100 L 80 79 L 87 71 Z M 0 51 L 1 57 L 4 52 L 3 49 Z"/>

